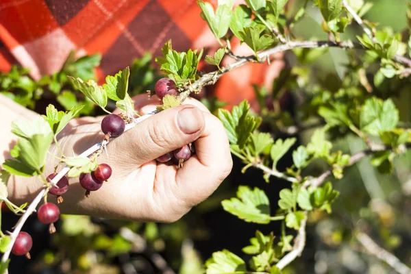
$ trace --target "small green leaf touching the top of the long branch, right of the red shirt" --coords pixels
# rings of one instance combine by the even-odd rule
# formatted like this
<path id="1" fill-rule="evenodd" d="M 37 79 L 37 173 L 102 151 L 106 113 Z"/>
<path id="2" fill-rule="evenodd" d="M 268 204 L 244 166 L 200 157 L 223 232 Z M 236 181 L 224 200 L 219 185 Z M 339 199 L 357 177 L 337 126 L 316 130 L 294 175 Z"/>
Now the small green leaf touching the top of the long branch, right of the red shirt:
<path id="1" fill-rule="evenodd" d="M 257 54 L 258 51 L 269 48 L 274 40 L 268 34 L 262 34 L 264 29 L 259 27 L 245 27 L 239 32 L 240 39 Z"/>

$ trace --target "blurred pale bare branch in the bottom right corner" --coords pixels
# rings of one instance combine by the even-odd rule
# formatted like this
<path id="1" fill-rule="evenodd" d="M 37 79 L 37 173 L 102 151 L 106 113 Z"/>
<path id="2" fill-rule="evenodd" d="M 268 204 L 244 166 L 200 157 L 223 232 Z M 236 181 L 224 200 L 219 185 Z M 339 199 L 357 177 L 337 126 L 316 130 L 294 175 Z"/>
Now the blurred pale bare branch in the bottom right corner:
<path id="1" fill-rule="evenodd" d="M 411 274 L 411 269 L 406 266 L 406 264 L 403 264 L 393 254 L 389 253 L 382 247 L 379 247 L 379 245 L 377 245 L 377 243 L 374 242 L 374 240 L 364 232 L 358 232 L 356 238 L 364 247 L 364 249 L 368 251 L 368 253 L 377 257 L 379 260 L 386 262 L 386 264 L 391 266 L 395 271 L 397 271 L 397 273 Z"/>

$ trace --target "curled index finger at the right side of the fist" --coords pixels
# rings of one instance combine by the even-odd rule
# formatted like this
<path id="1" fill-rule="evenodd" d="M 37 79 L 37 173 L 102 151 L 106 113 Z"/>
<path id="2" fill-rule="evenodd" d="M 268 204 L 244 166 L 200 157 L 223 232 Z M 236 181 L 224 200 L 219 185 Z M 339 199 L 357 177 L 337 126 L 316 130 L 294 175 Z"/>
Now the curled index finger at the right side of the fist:
<path id="1" fill-rule="evenodd" d="M 203 201 L 232 171 L 232 155 L 223 124 L 212 114 L 204 114 L 206 127 L 195 141 L 196 154 L 177 171 L 176 187 L 189 206 Z"/>

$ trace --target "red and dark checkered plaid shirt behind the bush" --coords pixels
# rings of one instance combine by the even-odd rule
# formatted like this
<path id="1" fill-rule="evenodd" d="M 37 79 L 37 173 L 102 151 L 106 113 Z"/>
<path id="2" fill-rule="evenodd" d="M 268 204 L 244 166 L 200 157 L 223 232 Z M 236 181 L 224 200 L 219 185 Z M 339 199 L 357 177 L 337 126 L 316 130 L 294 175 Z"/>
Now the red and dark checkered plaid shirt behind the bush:
<path id="1" fill-rule="evenodd" d="M 205 47 L 212 53 L 218 45 L 200 12 L 195 0 L 1 0 L 0 71 L 21 64 L 40 79 L 60 70 L 74 49 L 77 57 L 101 53 L 97 75 L 104 81 L 145 52 L 160 55 L 170 38 L 177 51 Z M 238 42 L 233 45 L 242 52 Z M 229 73 L 215 94 L 230 105 L 253 99 L 251 83 L 269 83 L 276 74 L 267 66 Z"/>

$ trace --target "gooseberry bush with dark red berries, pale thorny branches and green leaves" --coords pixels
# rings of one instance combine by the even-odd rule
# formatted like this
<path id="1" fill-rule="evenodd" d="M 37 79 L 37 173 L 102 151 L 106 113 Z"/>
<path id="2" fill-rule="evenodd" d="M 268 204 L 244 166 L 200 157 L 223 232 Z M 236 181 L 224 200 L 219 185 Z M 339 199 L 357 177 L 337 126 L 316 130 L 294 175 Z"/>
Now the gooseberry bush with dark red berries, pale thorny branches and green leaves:
<path id="1" fill-rule="evenodd" d="M 364 20 L 364 15 L 372 8 L 372 4 L 364 0 L 307 0 L 301 6 L 292 8 L 288 0 L 246 0 L 245 4 L 236 7 L 233 2 L 219 0 L 216 6 L 205 1 L 197 2 L 202 11 L 201 17 L 221 45 L 213 55 L 203 58 L 203 51 L 175 51 L 169 40 L 162 48 L 162 56 L 155 58 L 162 72 L 161 77 L 153 77 L 151 67 L 139 70 L 141 63 L 132 66 L 132 71 L 135 67 L 136 71 L 151 75 L 154 85 L 151 85 L 149 94 L 157 95 L 162 101 L 151 114 L 139 116 L 134 110 L 129 91 L 144 92 L 141 86 L 148 84 L 144 82 L 140 88 L 130 87 L 129 84 L 133 83 L 130 79 L 135 76 L 130 76 L 129 67 L 106 77 L 102 86 L 92 77 L 87 77 L 90 73 L 84 77 L 76 75 L 73 64 L 77 61 L 74 60 L 70 61 L 72 66 L 66 64 L 65 69 L 56 74 L 58 76 L 51 77 L 61 77 L 64 84 L 70 83 L 84 97 L 76 99 L 75 104 L 71 104 L 65 112 L 49 105 L 46 114 L 34 123 L 16 121 L 13 124 L 12 132 L 18 140 L 10 151 L 12 159 L 3 163 L 0 199 L 10 210 L 22 216 L 13 232 L 0 232 L 0 251 L 4 253 L 2 271 L 8 267 L 10 252 L 29 257 L 32 245 L 36 245 L 31 236 L 21 229 L 42 200 L 44 203 L 36 211 L 38 219 L 49 225 L 50 233 L 55 232 L 53 223 L 59 220 L 60 210 L 58 205 L 49 201 L 48 194 L 56 196 L 58 204 L 64 202 L 64 193 L 70 191 L 68 177 L 79 179 L 86 197 L 110 182 L 112 172 L 116 171 L 112 171 L 109 164 L 97 164 L 97 158 L 105 153 L 111 140 L 132 127 L 138 127 L 140 121 L 149 119 L 151 115 L 180 105 L 190 94 L 200 94 L 204 87 L 216 84 L 226 73 L 236 73 L 236 68 L 240 66 L 273 62 L 275 53 L 284 53 L 288 66 L 275 79 L 271 92 L 264 86 L 253 86 L 258 108 L 251 109 L 247 101 L 242 101 L 232 110 L 212 108 L 219 105 L 215 101 L 204 102 L 223 123 L 233 157 L 244 164 L 242 173 L 258 169 L 267 183 L 275 184 L 279 180 L 288 182 L 288 186 L 279 191 L 279 199 L 275 199 L 277 195 L 262 190 L 262 187 L 243 184 L 238 187 L 236 197 L 223 199 L 221 206 L 227 214 L 247 223 L 261 226 L 278 223 L 281 232 L 275 235 L 257 230 L 252 238 L 243 235 L 250 242 L 242 249 L 243 254 L 227 249 L 215 251 L 205 264 L 186 273 L 282 273 L 304 254 L 308 226 L 327 220 L 327 214 L 332 214 L 334 203 L 342 198 L 335 185 L 347 175 L 351 166 L 365 161 L 375 166 L 381 174 L 400 176 L 397 163 L 401 162 L 401 155 L 406 155 L 410 147 L 411 131 L 407 123 L 399 121 L 400 112 L 395 99 L 401 98 L 401 92 L 406 92 L 410 84 L 409 29 L 396 33 L 389 27 L 379 28 L 376 23 Z M 302 40 L 293 33 L 295 25 L 303 20 L 309 8 L 321 14 L 321 27 L 327 39 Z M 410 8 L 407 14 L 411 21 Z M 361 34 L 350 37 L 353 30 L 359 30 Z M 234 54 L 234 40 L 247 45 L 251 54 Z M 329 48 L 347 52 L 345 70 L 339 78 L 324 79 L 315 71 L 310 71 L 312 64 Z M 232 62 L 223 66 L 222 60 L 225 58 Z M 203 61 L 215 70 L 202 72 L 200 64 Z M 144 62 L 147 64 L 149 61 Z M 67 98 L 71 93 L 60 92 L 62 85 L 58 88 L 59 84 L 51 84 L 54 83 L 52 80 L 48 83 L 50 89 L 56 90 L 59 100 L 65 102 L 62 105 L 69 105 Z M 294 113 L 282 107 L 285 93 L 292 93 L 299 99 Z M 18 94 L 10 93 L 9 96 L 20 98 L 20 103 L 25 105 L 29 105 L 27 100 L 32 98 L 27 94 L 18 97 Z M 53 142 L 59 147 L 58 134 L 71 119 L 84 114 L 82 111 L 86 107 L 82 102 L 87 102 L 86 107 L 97 105 L 107 113 L 101 121 L 104 138 L 80 155 L 64 155 L 59 149 L 60 155 L 54 155 L 60 160 L 54 167 L 55 173 L 44 175 L 49 148 Z M 108 110 L 110 102 L 123 112 L 112 114 Z M 297 142 L 297 134 L 308 134 L 308 140 Z M 350 140 L 350 149 L 339 149 L 338 142 L 341 140 Z M 157 161 L 184 169 L 184 162 L 190 161 L 194 153 L 195 145 L 187 144 L 160 156 Z M 281 163 L 286 155 L 291 155 L 292 164 L 284 167 Z M 7 199 L 6 184 L 10 175 L 36 176 L 44 182 L 45 188 L 34 201 L 16 206 Z M 362 179 L 366 181 L 369 178 L 362 175 Z M 393 213 L 393 208 L 398 206 L 400 198 L 384 201 L 377 199 L 381 197 L 374 195 L 373 190 L 368 191 L 371 210 L 351 212 L 349 203 L 354 202 L 350 199 L 356 197 L 345 198 L 343 206 L 347 208 L 345 211 L 344 207 L 339 210 L 339 219 L 343 220 L 341 223 L 345 229 L 342 229 L 343 232 L 334 229 L 332 240 L 325 236 L 321 239 L 335 247 L 343 241 L 343 237 L 349 238 L 356 242 L 353 251 L 365 251 L 384 263 L 384 267 L 398 273 L 411 273 L 407 266 L 411 262 L 409 254 L 408 257 L 399 254 L 405 260 L 401 262 L 397 254 L 390 252 L 401 247 L 401 242 L 395 237 L 395 230 L 399 227 L 395 227 L 392 221 L 395 218 L 393 215 L 399 214 Z M 406 204 L 406 197 L 401 203 Z M 388 217 L 386 208 L 390 212 Z M 404 218 L 409 221 L 408 216 Z M 373 240 L 374 235 L 382 240 Z"/>

